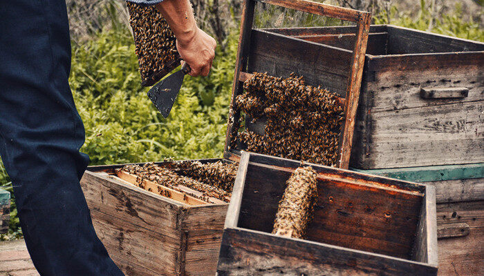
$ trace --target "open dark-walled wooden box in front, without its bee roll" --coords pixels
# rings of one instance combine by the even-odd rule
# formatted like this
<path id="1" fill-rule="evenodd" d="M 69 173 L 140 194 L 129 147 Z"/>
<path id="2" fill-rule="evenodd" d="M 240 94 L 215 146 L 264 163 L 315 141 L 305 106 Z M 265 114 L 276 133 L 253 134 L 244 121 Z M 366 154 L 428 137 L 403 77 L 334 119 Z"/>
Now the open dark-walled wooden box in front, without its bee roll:
<path id="1" fill-rule="evenodd" d="M 306 165 L 318 176 L 307 240 L 280 237 L 274 217 L 301 162 L 243 153 L 218 275 L 436 275 L 434 187 Z"/>

